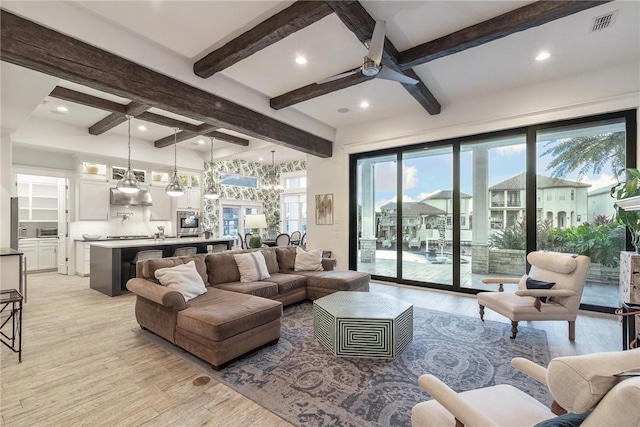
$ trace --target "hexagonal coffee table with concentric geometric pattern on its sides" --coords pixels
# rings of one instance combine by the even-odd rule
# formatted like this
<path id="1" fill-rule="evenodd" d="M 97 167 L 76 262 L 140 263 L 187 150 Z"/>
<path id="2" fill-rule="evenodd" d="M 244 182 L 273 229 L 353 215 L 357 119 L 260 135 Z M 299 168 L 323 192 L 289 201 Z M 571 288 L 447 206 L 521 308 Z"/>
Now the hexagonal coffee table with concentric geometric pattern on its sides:
<path id="1" fill-rule="evenodd" d="M 335 356 L 394 358 L 413 339 L 413 305 L 375 292 L 335 292 L 313 302 L 316 338 Z"/>

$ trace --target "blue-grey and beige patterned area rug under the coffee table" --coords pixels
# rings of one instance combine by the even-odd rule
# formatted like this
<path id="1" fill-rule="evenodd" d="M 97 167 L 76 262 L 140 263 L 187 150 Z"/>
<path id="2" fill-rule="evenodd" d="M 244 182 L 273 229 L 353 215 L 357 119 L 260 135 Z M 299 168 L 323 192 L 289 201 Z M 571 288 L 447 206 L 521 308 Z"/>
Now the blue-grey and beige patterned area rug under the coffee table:
<path id="1" fill-rule="evenodd" d="M 551 404 L 546 387 L 515 371 L 521 356 L 549 362 L 544 331 L 414 307 L 413 341 L 394 360 L 333 356 L 313 335 L 313 304 L 285 308 L 280 341 L 220 372 L 156 335 L 135 329 L 296 426 L 410 426 L 411 408 L 430 397 L 431 373 L 456 391 L 511 384 Z"/>

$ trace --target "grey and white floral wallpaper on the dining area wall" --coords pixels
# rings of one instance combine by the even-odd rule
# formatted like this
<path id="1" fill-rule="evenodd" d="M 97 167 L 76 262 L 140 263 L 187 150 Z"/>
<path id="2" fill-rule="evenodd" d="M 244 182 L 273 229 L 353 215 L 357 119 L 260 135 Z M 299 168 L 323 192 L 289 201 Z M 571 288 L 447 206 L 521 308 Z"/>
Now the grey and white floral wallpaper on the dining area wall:
<path id="1" fill-rule="evenodd" d="M 220 199 L 250 200 L 262 202 L 262 212 L 267 216 L 267 223 L 272 218 L 280 218 L 280 192 L 278 190 L 265 190 L 266 184 L 277 185 L 280 182 L 280 174 L 284 172 L 296 172 L 306 170 L 306 162 L 297 160 L 294 162 L 275 165 L 275 174 L 270 174 L 271 165 L 247 162 L 244 160 L 228 160 L 223 162 L 205 162 L 203 186 L 213 179 L 220 198 L 203 200 L 204 212 L 202 214 L 204 230 L 210 230 L 214 236 L 220 236 Z M 239 187 L 235 185 L 221 185 L 220 173 L 233 173 L 258 178 L 259 188 Z"/>

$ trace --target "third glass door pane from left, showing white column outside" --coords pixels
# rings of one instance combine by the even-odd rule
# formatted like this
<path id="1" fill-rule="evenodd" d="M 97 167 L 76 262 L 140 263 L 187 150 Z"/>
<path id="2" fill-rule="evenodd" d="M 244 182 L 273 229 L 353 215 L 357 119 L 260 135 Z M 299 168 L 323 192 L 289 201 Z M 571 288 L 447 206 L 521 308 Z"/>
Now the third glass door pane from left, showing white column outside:
<path id="1" fill-rule="evenodd" d="M 525 273 L 525 171 L 525 135 L 461 146 L 460 286 L 497 290 L 482 279 Z"/>

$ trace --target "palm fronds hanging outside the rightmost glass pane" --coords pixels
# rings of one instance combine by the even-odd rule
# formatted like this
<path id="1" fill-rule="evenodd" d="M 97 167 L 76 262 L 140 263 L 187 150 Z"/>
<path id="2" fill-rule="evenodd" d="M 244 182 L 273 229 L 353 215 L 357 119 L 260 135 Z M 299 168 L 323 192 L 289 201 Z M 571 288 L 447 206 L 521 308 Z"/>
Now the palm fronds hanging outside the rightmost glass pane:
<path id="1" fill-rule="evenodd" d="M 550 141 L 545 146 L 555 142 Z M 542 156 L 548 154 L 553 156 L 553 160 L 547 170 L 553 169 L 551 175 L 554 178 L 563 178 L 570 172 L 578 171 L 580 180 L 589 171 L 600 174 L 608 166 L 617 182 L 620 182 L 625 168 L 625 134 L 610 132 L 563 139 L 542 153 Z"/>

